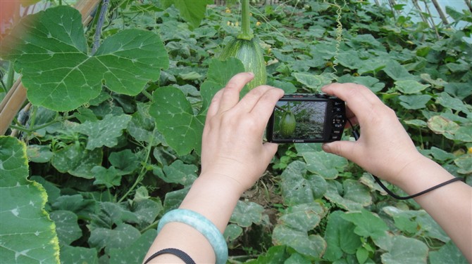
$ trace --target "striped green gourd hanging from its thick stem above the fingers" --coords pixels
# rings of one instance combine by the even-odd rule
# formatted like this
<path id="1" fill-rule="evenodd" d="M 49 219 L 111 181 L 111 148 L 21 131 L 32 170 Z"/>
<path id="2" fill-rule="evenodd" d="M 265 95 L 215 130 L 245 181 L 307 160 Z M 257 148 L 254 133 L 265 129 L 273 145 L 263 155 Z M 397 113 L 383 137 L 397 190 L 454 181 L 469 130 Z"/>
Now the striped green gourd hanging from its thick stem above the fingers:
<path id="1" fill-rule="evenodd" d="M 254 73 L 254 79 L 247 84 L 247 88 L 251 90 L 256 86 L 266 84 L 267 72 L 262 48 L 254 39 L 254 34 L 251 33 L 249 27 L 249 0 L 242 0 L 241 27 L 241 33 L 223 48 L 220 60 L 226 60 L 230 57 L 241 60 L 244 70 Z"/>

